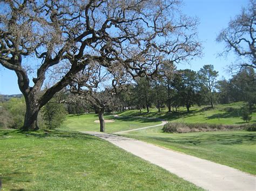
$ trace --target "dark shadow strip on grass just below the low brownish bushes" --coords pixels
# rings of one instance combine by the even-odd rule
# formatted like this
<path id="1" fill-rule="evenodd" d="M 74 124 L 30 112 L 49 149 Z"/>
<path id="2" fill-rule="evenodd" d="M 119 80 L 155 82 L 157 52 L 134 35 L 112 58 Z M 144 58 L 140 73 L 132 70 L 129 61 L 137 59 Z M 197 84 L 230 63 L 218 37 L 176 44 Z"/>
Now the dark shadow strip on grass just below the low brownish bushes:
<path id="1" fill-rule="evenodd" d="M 211 145 L 211 144 L 221 144 L 221 145 L 234 145 L 234 144 L 255 144 L 256 133 L 248 134 L 205 134 L 199 136 L 189 136 L 181 138 L 167 138 L 167 137 L 150 137 L 151 139 L 156 139 L 161 142 L 174 143 L 180 145 Z"/>

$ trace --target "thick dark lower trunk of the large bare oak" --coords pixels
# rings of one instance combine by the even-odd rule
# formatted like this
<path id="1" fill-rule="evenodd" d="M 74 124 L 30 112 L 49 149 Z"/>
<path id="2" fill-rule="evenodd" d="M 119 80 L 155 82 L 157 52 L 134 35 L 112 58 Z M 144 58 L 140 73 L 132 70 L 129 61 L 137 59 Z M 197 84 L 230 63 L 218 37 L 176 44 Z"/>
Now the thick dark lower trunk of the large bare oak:
<path id="1" fill-rule="evenodd" d="M 37 116 L 39 112 L 39 105 L 35 102 L 35 98 L 29 98 L 25 96 L 26 101 L 26 114 L 24 118 L 24 125 L 22 127 L 23 131 L 36 131 L 37 126 Z"/>

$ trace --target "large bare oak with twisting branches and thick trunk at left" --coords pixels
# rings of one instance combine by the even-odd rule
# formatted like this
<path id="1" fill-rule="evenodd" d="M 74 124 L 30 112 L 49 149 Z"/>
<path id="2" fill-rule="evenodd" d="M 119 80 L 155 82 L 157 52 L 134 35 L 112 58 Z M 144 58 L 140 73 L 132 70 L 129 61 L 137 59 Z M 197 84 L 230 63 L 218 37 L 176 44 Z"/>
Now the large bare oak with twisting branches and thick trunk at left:
<path id="1" fill-rule="evenodd" d="M 91 61 L 131 76 L 153 75 L 167 54 L 174 62 L 200 54 L 197 19 L 179 0 L 1 1 L 0 63 L 14 70 L 26 101 L 23 130 Z M 49 75 L 55 83 L 42 93 Z M 52 73 L 49 73 L 52 71 Z M 30 73 L 32 72 L 32 82 Z"/>

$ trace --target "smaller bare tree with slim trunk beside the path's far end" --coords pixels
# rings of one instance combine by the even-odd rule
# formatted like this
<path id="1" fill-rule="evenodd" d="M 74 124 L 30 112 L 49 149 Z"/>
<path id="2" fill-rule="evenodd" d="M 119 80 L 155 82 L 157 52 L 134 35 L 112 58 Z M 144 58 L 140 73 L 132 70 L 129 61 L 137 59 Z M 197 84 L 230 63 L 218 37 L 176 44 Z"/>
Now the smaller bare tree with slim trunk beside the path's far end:
<path id="1" fill-rule="evenodd" d="M 91 63 L 89 66 L 72 77 L 72 82 L 69 85 L 70 92 L 77 95 L 80 100 L 85 100 L 93 105 L 99 117 L 100 132 L 105 132 L 104 112 L 107 107 L 113 105 L 113 96 L 117 89 L 117 82 L 114 81 L 117 80 L 115 77 L 112 80 L 112 86 L 115 89 L 106 88 L 104 83 L 109 82 L 110 72 L 99 63 Z M 112 69 L 111 72 L 113 72 Z"/>

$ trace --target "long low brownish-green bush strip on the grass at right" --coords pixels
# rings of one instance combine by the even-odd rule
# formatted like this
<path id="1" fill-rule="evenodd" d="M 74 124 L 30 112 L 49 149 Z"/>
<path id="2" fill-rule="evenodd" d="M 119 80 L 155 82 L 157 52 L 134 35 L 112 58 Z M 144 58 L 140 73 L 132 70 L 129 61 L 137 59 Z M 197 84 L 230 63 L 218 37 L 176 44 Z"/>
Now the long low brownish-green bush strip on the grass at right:
<path id="1" fill-rule="evenodd" d="M 188 133 L 188 132 L 206 132 L 206 131 L 231 131 L 247 130 L 255 131 L 256 124 L 246 125 L 223 125 L 207 123 L 167 123 L 162 129 L 167 133 Z"/>

